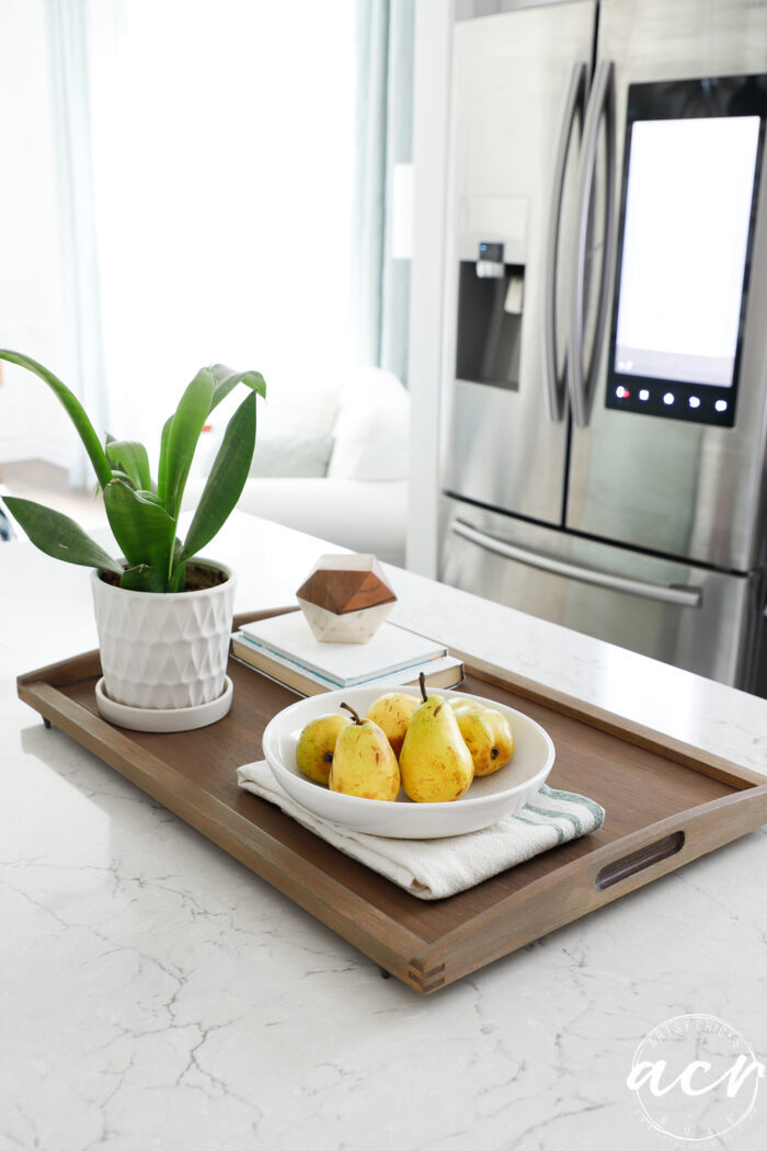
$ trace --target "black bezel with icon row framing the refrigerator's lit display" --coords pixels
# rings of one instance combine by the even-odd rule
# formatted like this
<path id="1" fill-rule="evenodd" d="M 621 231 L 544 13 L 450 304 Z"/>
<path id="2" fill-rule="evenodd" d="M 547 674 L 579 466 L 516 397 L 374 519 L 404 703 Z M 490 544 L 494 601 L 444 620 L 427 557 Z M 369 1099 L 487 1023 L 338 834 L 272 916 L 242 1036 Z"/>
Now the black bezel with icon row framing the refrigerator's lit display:
<path id="1" fill-rule="evenodd" d="M 741 315 L 738 319 L 737 344 L 733 365 L 733 383 L 730 387 L 719 387 L 710 383 L 691 383 L 680 380 L 662 380 L 658 376 L 642 376 L 635 373 L 623 373 L 615 368 L 615 345 L 618 336 L 618 308 L 621 291 L 621 270 L 623 266 L 623 239 L 626 231 L 626 204 L 628 198 L 628 175 L 631 161 L 631 128 L 643 120 L 685 120 L 703 117 L 759 116 L 759 139 L 754 167 L 753 189 L 751 195 L 751 212 L 749 218 L 749 237 L 746 242 L 745 264 L 743 268 L 743 290 L 741 295 Z M 626 137 L 623 146 L 623 174 L 621 185 L 621 205 L 618 228 L 618 245 L 615 258 L 615 275 L 613 277 L 613 315 L 607 360 L 607 387 L 605 406 L 620 411 L 641 412 L 645 416 L 660 416 L 665 419 L 688 420 L 696 424 L 714 424 L 722 427 L 735 425 L 737 407 L 738 381 L 741 375 L 741 357 L 743 351 L 743 330 L 751 280 L 751 264 L 759 204 L 759 188 L 765 148 L 765 120 L 767 117 L 767 75 L 751 74 L 746 76 L 712 76 L 700 79 L 661 81 L 651 84 L 630 84 L 628 90 L 628 107 L 626 115 Z M 618 389 L 624 388 L 629 395 L 619 398 Z M 638 398 L 641 390 L 649 392 L 649 398 Z M 672 391 L 673 405 L 664 402 L 666 392 Z M 700 406 L 690 407 L 689 399 L 697 396 Z M 716 401 L 723 399 L 727 407 L 723 412 L 715 409 Z"/>

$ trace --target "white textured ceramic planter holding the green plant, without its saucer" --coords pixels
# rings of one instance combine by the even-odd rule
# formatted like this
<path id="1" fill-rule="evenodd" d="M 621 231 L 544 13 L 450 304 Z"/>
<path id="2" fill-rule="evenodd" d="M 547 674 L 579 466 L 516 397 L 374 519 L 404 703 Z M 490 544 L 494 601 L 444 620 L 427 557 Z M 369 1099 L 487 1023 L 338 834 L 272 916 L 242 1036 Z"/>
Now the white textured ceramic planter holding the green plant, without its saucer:
<path id="1" fill-rule="evenodd" d="M 91 588 L 106 692 L 135 708 L 191 708 L 224 691 L 236 579 L 200 592 L 128 592 L 93 572 Z"/>

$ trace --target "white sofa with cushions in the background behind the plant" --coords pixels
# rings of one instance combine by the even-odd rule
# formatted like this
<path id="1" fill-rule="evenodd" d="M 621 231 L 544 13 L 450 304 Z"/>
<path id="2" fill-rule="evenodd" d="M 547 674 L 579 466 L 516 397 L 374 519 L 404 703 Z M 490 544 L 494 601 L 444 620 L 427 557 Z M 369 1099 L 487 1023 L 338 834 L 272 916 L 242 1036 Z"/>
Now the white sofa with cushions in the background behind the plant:
<path id="1" fill-rule="evenodd" d="M 256 449 L 238 509 L 402 566 L 409 450 L 402 384 L 381 368 L 356 368 L 312 390 L 271 390 L 274 398 L 259 402 Z M 229 410 L 201 442 L 185 508 L 199 498 Z"/>

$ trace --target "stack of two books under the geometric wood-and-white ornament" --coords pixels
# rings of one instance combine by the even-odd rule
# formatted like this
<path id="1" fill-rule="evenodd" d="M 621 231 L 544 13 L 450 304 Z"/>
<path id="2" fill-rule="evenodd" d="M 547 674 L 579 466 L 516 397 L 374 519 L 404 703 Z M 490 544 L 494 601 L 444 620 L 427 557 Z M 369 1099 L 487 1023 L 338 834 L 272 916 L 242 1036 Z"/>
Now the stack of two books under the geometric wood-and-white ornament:
<path id="1" fill-rule="evenodd" d="M 232 635 L 232 655 L 300 695 L 319 695 L 340 687 L 417 684 L 421 672 L 429 687 L 458 687 L 463 664 L 446 648 L 415 632 L 384 623 L 367 643 L 322 643 L 302 611 L 244 624 Z"/>

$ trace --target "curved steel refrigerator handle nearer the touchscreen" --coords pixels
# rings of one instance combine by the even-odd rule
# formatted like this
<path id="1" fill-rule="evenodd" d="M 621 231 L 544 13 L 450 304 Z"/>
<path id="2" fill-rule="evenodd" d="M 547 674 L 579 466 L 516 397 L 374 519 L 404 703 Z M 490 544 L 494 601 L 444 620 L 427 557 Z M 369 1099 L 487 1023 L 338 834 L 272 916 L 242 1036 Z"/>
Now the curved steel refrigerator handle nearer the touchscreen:
<path id="1" fill-rule="evenodd" d="M 589 221 L 591 216 L 591 197 L 593 177 L 597 168 L 597 150 L 599 129 L 605 122 L 606 143 L 606 189 L 605 189 L 605 239 L 601 253 L 601 276 L 599 283 L 599 303 L 597 327 L 591 349 L 591 363 L 588 371 L 583 364 L 584 323 L 585 323 L 585 275 L 589 242 Z M 575 259 L 573 307 L 570 312 L 570 355 L 568 360 L 568 378 L 570 382 L 570 404 L 573 419 L 577 427 L 589 422 L 591 401 L 593 399 L 599 356 L 607 322 L 609 305 L 609 274 L 613 259 L 614 223 L 615 223 L 615 78 L 612 60 L 603 60 L 597 66 L 591 98 L 586 110 L 583 129 L 583 148 L 578 170 L 578 213 L 575 229 Z"/>

